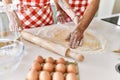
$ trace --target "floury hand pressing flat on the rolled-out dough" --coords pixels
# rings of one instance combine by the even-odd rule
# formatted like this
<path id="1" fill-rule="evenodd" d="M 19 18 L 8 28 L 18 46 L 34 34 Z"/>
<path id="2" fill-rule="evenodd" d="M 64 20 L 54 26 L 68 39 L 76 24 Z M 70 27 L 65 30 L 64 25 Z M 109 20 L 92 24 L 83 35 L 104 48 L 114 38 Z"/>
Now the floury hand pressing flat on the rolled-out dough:
<path id="1" fill-rule="evenodd" d="M 72 33 L 69 34 L 66 40 L 70 42 L 70 47 L 75 49 L 81 44 L 83 38 L 83 31 L 75 29 Z"/>

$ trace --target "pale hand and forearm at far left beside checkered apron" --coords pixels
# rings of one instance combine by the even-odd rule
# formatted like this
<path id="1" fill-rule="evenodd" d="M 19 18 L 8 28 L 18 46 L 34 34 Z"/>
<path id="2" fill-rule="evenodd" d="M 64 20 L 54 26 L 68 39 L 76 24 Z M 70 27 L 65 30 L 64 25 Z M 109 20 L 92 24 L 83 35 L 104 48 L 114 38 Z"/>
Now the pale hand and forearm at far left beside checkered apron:
<path id="1" fill-rule="evenodd" d="M 21 31 L 23 30 L 22 24 L 15 11 L 10 11 L 7 13 L 9 18 L 9 28 L 11 31 Z"/>

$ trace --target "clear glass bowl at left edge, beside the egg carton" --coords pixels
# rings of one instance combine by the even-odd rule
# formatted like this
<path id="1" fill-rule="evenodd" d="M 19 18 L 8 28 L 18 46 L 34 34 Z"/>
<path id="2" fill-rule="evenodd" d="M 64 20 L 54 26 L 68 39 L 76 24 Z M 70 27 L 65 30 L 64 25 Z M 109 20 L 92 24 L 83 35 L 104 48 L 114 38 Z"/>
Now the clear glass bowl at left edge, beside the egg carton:
<path id="1" fill-rule="evenodd" d="M 0 75 L 14 71 L 24 55 L 24 45 L 18 40 L 0 39 Z"/>

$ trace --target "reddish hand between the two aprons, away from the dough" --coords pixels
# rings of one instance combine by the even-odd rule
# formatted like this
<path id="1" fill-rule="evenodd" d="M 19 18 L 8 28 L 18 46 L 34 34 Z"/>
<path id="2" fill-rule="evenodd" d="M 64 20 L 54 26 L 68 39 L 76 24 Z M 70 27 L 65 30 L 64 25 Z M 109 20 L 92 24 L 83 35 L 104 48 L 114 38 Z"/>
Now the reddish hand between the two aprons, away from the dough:
<path id="1" fill-rule="evenodd" d="M 57 21 L 58 22 L 65 23 L 65 22 L 67 22 L 66 18 L 67 18 L 67 14 L 64 11 L 62 11 L 62 10 L 57 11 Z"/>

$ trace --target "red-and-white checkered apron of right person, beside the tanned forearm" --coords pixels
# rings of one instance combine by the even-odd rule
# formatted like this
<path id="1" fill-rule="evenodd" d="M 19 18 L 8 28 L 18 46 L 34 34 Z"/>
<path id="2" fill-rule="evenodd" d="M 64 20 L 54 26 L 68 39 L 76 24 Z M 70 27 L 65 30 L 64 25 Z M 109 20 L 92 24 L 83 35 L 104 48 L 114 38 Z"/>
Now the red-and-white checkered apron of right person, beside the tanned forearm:
<path id="1" fill-rule="evenodd" d="M 68 0 L 75 14 L 82 17 L 86 7 L 88 6 L 88 0 Z M 70 17 L 67 18 L 67 22 L 71 21 Z"/>

